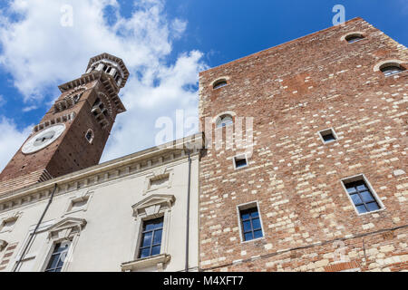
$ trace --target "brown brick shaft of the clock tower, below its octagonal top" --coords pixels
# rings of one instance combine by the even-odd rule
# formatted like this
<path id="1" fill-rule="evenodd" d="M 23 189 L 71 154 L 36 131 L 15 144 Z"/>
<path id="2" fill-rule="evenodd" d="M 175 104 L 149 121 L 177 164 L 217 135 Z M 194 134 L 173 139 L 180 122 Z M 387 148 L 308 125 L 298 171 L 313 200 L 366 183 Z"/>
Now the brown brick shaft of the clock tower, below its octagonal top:
<path id="1" fill-rule="evenodd" d="M 74 113 L 73 121 L 63 122 L 66 126 L 63 135 L 44 150 L 39 150 L 33 154 L 24 154 L 22 146 L 0 174 L 0 195 L 10 190 L 21 189 L 36 182 L 42 182 L 44 175 L 57 178 L 99 163 L 118 111 L 112 103 L 109 103 L 111 100 L 108 98 L 101 100 L 104 102 L 105 108 L 112 108 L 108 117 L 109 125 L 102 129 L 102 126 L 92 115 L 92 105 L 98 98 L 98 93 L 109 95 L 109 92 L 102 85 L 101 79 L 88 82 L 81 87 L 85 91 L 83 91 L 79 102 L 72 108 L 55 111 L 52 107 L 40 121 L 41 124 Z M 55 103 L 63 101 L 65 97 L 77 90 L 77 88 L 73 88 L 63 92 Z M 94 132 L 92 143 L 85 139 L 89 129 Z M 22 180 L 24 181 L 22 182 Z"/>

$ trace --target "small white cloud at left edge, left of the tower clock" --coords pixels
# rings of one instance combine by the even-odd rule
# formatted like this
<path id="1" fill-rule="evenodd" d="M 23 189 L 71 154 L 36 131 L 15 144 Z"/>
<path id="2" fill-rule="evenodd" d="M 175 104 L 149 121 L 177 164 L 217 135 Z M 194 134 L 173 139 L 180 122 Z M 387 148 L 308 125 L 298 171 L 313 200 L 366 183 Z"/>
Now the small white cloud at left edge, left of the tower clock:
<path id="1" fill-rule="evenodd" d="M 11 120 L 0 119 L 0 170 L 5 167 L 8 161 L 15 155 L 15 152 L 23 145 L 23 142 L 30 135 L 32 126 L 20 131 Z"/>

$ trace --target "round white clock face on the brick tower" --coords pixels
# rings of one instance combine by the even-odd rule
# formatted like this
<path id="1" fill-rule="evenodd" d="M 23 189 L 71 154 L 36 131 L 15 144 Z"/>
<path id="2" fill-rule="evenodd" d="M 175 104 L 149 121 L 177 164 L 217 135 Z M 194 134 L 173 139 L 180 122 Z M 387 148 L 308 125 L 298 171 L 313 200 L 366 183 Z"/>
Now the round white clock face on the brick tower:
<path id="1" fill-rule="evenodd" d="M 58 137 L 63 134 L 65 131 L 64 124 L 58 124 L 39 131 L 32 138 L 27 140 L 22 148 L 24 154 L 34 153 L 36 151 L 42 150 L 54 140 L 57 140 Z"/>

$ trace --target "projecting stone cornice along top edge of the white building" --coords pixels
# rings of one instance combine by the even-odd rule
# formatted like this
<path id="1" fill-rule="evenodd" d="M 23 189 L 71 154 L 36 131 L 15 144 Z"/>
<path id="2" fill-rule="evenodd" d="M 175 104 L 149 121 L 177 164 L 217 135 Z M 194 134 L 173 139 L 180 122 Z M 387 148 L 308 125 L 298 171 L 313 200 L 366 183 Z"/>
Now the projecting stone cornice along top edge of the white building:
<path id="1" fill-rule="evenodd" d="M 193 144 L 194 148 L 189 149 L 189 144 Z M 0 197 L 0 214 L 48 198 L 53 192 L 54 184 L 58 185 L 55 195 L 63 195 L 74 190 L 86 189 L 115 179 L 142 173 L 161 165 L 179 162 L 187 158 L 188 150 L 193 158 L 197 158 L 196 156 L 199 156 L 202 148 L 203 136 L 202 133 L 199 133 L 56 179 L 37 183 L 24 189 L 8 192 Z"/>

